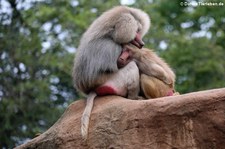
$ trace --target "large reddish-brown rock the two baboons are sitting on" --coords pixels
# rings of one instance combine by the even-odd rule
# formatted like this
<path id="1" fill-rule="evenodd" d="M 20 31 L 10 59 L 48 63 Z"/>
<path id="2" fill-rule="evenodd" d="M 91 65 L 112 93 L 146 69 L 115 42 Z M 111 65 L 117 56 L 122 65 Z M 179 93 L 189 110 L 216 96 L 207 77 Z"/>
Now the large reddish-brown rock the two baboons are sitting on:
<path id="1" fill-rule="evenodd" d="M 85 100 L 72 103 L 45 133 L 17 149 L 225 149 L 225 88 L 152 100 L 96 98 L 82 141 Z"/>

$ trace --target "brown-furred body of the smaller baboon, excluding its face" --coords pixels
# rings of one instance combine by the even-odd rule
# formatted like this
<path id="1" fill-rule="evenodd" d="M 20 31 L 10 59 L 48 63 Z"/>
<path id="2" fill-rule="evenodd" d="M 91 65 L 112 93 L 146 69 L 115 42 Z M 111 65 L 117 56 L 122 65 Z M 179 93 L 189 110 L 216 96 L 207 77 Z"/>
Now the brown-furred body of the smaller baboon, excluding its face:
<path id="1" fill-rule="evenodd" d="M 175 74 L 170 66 L 150 49 L 126 45 L 141 72 L 141 90 L 146 98 L 157 98 L 174 92 Z"/>

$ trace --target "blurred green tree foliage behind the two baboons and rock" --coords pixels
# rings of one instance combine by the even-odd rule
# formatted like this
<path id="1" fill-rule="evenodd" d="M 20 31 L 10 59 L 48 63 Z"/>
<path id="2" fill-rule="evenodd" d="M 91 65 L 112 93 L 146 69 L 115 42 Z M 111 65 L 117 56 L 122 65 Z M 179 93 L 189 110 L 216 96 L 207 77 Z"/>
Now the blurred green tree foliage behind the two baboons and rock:
<path id="1" fill-rule="evenodd" d="M 181 94 L 225 87 L 224 0 L 0 0 L 0 148 L 47 130 L 78 100 L 71 70 L 82 33 L 116 5 L 151 17 L 146 47 Z"/>

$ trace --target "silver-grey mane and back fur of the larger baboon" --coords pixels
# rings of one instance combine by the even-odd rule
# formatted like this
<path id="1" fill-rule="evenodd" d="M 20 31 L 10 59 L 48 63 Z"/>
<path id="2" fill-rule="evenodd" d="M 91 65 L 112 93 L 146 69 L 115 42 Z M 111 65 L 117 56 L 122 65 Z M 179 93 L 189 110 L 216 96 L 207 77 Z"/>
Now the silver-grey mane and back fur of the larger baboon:
<path id="1" fill-rule="evenodd" d="M 143 37 L 149 27 L 148 15 L 139 9 L 117 6 L 103 13 L 81 38 L 73 68 L 74 86 L 89 93 L 104 83 L 118 71 L 121 45 L 133 40 L 137 31 Z"/>

